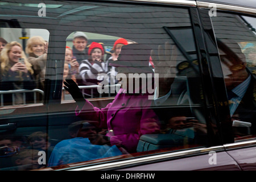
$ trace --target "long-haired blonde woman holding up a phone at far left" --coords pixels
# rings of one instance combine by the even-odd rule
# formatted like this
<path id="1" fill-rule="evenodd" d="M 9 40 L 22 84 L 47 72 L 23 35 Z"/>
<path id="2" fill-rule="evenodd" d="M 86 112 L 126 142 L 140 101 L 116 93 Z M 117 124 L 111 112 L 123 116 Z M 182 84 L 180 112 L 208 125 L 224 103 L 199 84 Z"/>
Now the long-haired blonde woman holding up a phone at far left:
<path id="1" fill-rule="evenodd" d="M 19 59 L 23 60 L 20 61 Z M 1 84 L 0 90 L 35 89 L 34 70 L 28 62 L 27 57 L 18 42 L 6 44 L 1 51 Z M 5 105 L 23 104 L 23 94 L 5 94 Z M 34 99 L 32 93 L 26 93 L 26 103 Z"/>

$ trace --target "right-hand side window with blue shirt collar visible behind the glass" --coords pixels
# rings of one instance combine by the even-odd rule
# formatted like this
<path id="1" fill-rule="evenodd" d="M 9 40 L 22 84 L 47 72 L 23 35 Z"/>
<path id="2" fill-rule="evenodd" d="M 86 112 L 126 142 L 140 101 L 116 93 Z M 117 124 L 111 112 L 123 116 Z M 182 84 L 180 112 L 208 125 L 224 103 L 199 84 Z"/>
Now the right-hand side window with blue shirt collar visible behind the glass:
<path id="1" fill-rule="evenodd" d="M 235 140 L 255 137 L 254 17 L 218 12 L 212 16 Z"/>

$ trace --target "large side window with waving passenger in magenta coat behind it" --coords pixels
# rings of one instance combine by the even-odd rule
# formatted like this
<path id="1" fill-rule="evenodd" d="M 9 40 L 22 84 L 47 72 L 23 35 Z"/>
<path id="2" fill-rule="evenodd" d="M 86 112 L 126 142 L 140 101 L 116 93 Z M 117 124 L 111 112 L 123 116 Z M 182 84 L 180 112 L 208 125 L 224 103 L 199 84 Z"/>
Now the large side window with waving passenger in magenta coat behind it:
<path id="1" fill-rule="evenodd" d="M 45 105 L 3 111 L 0 149 L 9 151 L 1 158 L 7 161 L 3 169 L 57 168 L 208 145 L 201 63 L 187 7 L 23 5 L 0 7 L 19 11 L 9 14 L 20 27 L 49 32 Z M 26 158 L 27 167 L 20 163 Z"/>

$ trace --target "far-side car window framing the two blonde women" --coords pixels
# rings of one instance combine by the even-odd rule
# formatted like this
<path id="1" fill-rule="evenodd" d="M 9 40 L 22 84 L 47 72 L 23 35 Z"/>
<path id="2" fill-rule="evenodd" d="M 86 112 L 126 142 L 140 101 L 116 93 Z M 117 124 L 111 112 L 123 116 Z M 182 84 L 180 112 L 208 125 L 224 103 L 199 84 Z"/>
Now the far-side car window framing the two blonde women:
<path id="1" fill-rule="evenodd" d="M 42 103 L 49 32 L 35 28 L 0 32 L 1 106 Z"/>

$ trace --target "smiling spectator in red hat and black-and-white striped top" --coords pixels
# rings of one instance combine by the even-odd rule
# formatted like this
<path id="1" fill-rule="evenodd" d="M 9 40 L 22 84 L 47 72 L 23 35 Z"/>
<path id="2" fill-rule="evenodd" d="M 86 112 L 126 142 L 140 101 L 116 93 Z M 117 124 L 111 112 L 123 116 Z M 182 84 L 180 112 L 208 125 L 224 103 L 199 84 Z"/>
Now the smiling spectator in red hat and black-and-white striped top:
<path id="1" fill-rule="evenodd" d="M 104 71 L 104 47 L 102 44 L 92 42 L 88 49 L 88 60 L 82 60 L 79 66 L 79 75 L 82 79 L 80 85 L 98 85 L 103 78 L 101 73 Z M 88 97 L 98 97 L 97 88 L 93 90 L 93 95 L 90 89 L 84 89 L 84 95 Z"/>

